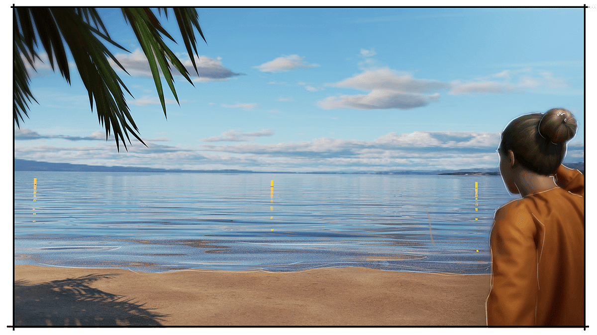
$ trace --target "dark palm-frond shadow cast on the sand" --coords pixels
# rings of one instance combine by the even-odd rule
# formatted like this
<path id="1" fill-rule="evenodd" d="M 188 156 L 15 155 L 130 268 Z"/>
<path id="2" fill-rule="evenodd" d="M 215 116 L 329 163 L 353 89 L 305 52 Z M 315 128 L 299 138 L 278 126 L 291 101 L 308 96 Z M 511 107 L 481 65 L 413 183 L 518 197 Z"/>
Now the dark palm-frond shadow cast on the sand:
<path id="1" fill-rule="evenodd" d="M 90 287 L 117 274 L 29 284 L 14 283 L 15 325 L 161 325 L 168 315 L 143 308 L 142 303 Z"/>

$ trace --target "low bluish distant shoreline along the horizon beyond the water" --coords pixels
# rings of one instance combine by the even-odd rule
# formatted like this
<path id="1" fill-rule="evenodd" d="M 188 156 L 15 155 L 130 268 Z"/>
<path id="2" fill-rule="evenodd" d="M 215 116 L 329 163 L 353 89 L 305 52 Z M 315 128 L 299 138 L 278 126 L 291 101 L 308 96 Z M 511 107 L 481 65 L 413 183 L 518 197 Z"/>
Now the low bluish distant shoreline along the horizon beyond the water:
<path id="1" fill-rule="evenodd" d="M 584 163 L 565 163 L 568 168 L 578 169 L 584 174 Z M 355 172 L 276 172 L 276 171 L 251 171 L 251 170 L 182 170 L 182 169 L 155 169 L 128 166 L 99 166 L 70 163 L 48 163 L 35 160 L 15 159 L 15 171 L 53 171 L 53 172 L 162 172 L 162 173 L 296 173 L 296 174 L 338 174 L 338 175 L 453 175 L 453 176 L 498 176 L 497 169 L 478 169 L 477 171 L 462 170 L 435 170 L 435 171 L 355 171 Z"/>

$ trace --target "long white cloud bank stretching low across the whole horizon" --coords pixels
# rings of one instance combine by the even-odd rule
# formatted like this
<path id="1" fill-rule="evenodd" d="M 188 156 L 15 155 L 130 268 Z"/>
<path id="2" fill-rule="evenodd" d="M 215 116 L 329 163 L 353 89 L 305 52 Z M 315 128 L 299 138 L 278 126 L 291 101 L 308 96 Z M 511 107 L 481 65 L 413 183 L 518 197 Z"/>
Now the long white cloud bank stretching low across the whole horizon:
<path id="1" fill-rule="evenodd" d="M 24 130 L 24 129 L 23 129 Z M 23 135 L 35 132 L 24 130 Z M 19 134 L 16 132 L 16 135 Z M 98 137 L 100 134 L 92 136 Z M 374 139 L 316 138 L 303 142 L 273 144 L 248 143 L 259 136 L 271 136 L 273 131 L 223 132 L 219 139 L 205 142 L 244 141 L 232 145 L 204 144 L 197 148 L 182 148 L 155 144 L 163 138 L 147 140 L 148 147 L 133 141 L 128 153 L 117 153 L 113 139 L 95 141 L 94 146 L 56 147 L 26 146 L 32 141 L 16 141 L 15 157 L 44 162 L 90 164 L 104 166 L 145 166 L 165 169 L 243 169 L 254 171 L 338 171 L 338 170 L 442 170 L 497 169 L 495 153 L 500 141 L 498 132 L 391 132 Z M 43 135 L 37 135 L 44 137 Z M 47 136 L 45 138 L 48 138 Z M 52 135 L 52 138 L 64 138 Z M 70 137 L 74 139 L 74 137 Z M 82 139 L 82 138 L 78 138 Z M 568 146 L 568 157 L 582 160 L 584 144 L 576 141 Z M 160 162 L 156 166 L 156 162 Z"/>

